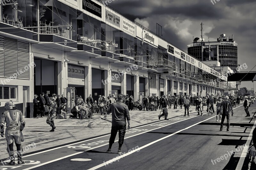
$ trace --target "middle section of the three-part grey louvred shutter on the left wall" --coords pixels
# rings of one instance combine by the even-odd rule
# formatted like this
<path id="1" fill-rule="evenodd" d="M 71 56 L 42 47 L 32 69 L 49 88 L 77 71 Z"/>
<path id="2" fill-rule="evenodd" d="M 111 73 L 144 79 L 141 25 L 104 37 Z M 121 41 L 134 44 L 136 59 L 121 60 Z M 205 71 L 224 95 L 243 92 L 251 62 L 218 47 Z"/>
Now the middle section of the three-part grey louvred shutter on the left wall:
<path id="1" fill-rule="evenodd" d="M 4 38 L 4 76 L 11 77 L 18 71 L 17 40 Z"/>

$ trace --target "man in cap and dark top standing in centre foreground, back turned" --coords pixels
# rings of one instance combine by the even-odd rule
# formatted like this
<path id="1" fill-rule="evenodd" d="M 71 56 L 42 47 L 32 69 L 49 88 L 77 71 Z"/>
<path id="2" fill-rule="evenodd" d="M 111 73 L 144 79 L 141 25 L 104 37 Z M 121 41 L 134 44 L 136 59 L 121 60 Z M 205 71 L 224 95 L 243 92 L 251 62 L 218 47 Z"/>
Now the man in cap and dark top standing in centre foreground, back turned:
<path id="1" fill-rule="evenodd" d="M 111 127 L 111 135 L 109 138 L 109 146 L 107 152 L 111 152 L 112 144 L 115 142 L 116 134 L 118 131 L 119 135 L 119 147 L 117 153 L 122 153 L 121 147 L 124 144 L 124 134 L 126 130 L 126 119 L 128 122 L 128 130 L 130 129 L 130 114 L 128 107 L 122 102 L 125 96 L 123 94 L 117 95 L 117 102 L 110 105 L 108 109 L 108 113 L 105 115 L 109 115 L 112 113 L 112 127 Z"/>

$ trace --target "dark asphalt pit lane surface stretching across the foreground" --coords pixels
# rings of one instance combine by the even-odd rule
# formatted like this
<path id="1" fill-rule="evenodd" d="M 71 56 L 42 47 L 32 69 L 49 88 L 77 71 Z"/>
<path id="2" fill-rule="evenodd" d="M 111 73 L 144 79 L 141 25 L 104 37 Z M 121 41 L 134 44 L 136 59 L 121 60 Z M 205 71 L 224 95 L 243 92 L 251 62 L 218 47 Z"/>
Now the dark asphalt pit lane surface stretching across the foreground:
<path id="1" fill-rule="evenodd" d="M 252 117 L 245 118 L 243 107 L 234 109 L 234 116 L 230 121 L 230 132 L 225 131 L 225 125 L 223 131 L 219 131 L 220 122 L 215 122 L 215 115 L 195 116 L 196 114 L 193 114 L 190 117 L 178 117 L 157 122 L 153 126 L 155 130 L 125 139 L 122 147 L 124 155 L 117 154 L 118 144 L 116 142 L 112 146 L 113 153 L 106 153 L 108 145 L 105 144 L 87 152 L 81 152 L 85 149 L 73 149 L 79 154 L 61 158 L 61 155 L 65 155 L 70 150 L 68 147 L 61 147 L 58 150 L 28 155 L 30 159 L 26 157 L 24 160 L 34 160 L 31 158 L 35 158 L 34 161 L 37 161 L 36 157 L 40 156 L 41 158 L 42 166 L 40 164 L 36 165 L 37 167 L 33 165 L 28 169 L 34 167 L 34 169 L 90 169 L 122 155 L 123 158 L 108 163 L 108 165 L 106 163 L 99 169 L 235 169 L 240 158 L 239 153 L 241 153 L 241 151 L 237 152 L 236 148 L 246 143 L 256 120 L 252 114 L 256 110 L 256 105 L 252 105 L 249 110 Z M 149 129 L 148 127 L 149 125 L 137 129 Z M 129 135 L 126 134 L 125 137 Z M 157 141 L 159 139 L 161 140 Z M 145 147 L 145 145 L 148 146 Z M 142 149 L 138 152 L 132 151 L 141 147 Z M 211 160 L 220 158 L 228 153 L 227 151 L 235 153 L 227 160 L 215 161 L 216 164 L 213 165 Z M 58 156 L 60 156 L 59 160 L 43 165 L 49 158 L 54 160 Z M 70 160 L 75 158 L 92 160 L 87 162 Z M 25 167 L 24 165 L 17 169 Z"/>

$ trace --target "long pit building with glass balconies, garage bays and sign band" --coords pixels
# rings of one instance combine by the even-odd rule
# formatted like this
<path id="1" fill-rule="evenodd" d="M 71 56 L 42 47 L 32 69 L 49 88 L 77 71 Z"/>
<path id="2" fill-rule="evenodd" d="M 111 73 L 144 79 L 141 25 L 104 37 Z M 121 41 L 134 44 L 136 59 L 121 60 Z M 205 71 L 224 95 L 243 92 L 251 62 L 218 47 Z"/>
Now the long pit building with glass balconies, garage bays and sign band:
<path id="1" fill-rule="evenodd" d="M 68 108 L 74 95 L 224 94 L 227 76 L 99 1 L 15 3 L 0 8 L 0 101 L 25 117 L 41 92 L 64 94 Z"/>

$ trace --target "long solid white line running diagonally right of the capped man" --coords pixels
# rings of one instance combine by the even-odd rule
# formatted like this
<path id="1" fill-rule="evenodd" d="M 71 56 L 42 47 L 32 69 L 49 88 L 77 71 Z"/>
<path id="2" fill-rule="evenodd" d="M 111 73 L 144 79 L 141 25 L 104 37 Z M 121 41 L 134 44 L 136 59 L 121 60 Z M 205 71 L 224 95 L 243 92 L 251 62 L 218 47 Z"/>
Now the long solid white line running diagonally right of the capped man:
<path id="1" fill-rule="evenodd" d="M 160 139 L 158 139 L 158 140 L 156 140 L 156 141 L 153 141 L 153 142 L 151 142 L 151 143 L 149 143 L 149 144 L 146 144 L 146 145 L 144 145 L 144 146 L 141 146 L 141 147 L 139 147 L 138 149 L 132 150 L 131 152 L 125 153 L 124 155 L 118 156 L 118 157 L 116 157 L 116 158 L 114 158 L 114 159 L 108 160 L 107 162 L 104 162 L 104 163 L 102 163 L 102 164 L 100 164 L 100 165 L 94 166 L 94 167 L 92 167 L 92 168 L 90 168 L 90 169 L 88 169 L 88 170 L 95 170 L 95 169 L 98 169 L 98 168 L 100 168 L 100 167 L 102 167 L 102 166 L 106 166 L 106 165 L 108 165 L 108 164 L 111 164 L 112 162 L 114 162 L 114 161 L 116 161 L 116 160 L 119 160 L 119 159 L 121 159 L 121 158 L 124 158 L 124 157 L 126 157 L 126 156 L 128 156 L 128 155 L 130 155 L 130 154 L 132 154 L 132 153 L 134 153 L 134 152 L 137 152 L 137 151 L 139 151 L 139 150 L 141 150 L 141 149 L 143 149 L 143 148 L 146 148 L 146 147 L 148 147 L 148 146 L 150 146 L 150 145 L 152 145 L 152 144 L 155 144 L 156 142 L 159 142 L 159 141 L 164 140 L 164 139 L 166 139 L 166 138 L 168 138 L 168 137 L 171 137 L 171 136 L 173 136 L 173 135 L 175 135 L 175 134 L 177 134 L 177 133 L 180 133 L 180 132 L 183 131 L 183 130 L 189 129 L 189 128 L 191 128 L 191 127 L 193 127 L 193 126 L 196 126 L 196 125 L 198 125 L 198 124 L 200 124 L 200 123 L 202 123 L 202 122 L 205 122 L 205 121 L 207 121 L 207 120 L 209 120 L 209 119 L 212 119 L 213 117 L 215 117 L 215 116 L 212 116 L 212 117 L 210 117 L 210 118 L 208 118 L 208 119 L 206 119 L 206 120 L 204 120 L 204 121 L 198 122 L 198 123 L 196 123 L 196 124 L 193 124 L 193 125 L 191 125 L 191 126 L 185 128 L 185 129 L 181 129 L 181 130 L 179 130 L 179 131 L 177 131 L 177 132 L 174 132 L 174 133 L 172 133 L 171 135 L 168 135 L 168 136 L 166 136 L 166 137 L 162 137 L 162 138 L 160 138 Z"/>

